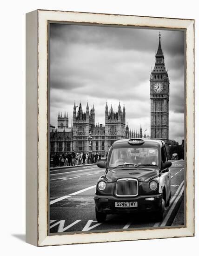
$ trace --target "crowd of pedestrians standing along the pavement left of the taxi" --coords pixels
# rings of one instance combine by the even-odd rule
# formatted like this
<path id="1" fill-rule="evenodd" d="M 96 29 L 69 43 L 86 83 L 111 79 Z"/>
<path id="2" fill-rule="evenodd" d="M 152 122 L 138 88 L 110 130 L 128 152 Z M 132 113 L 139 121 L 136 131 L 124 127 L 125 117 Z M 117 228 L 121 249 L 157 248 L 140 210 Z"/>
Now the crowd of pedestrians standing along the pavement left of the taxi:
<path id="1" fill-rule="evenodd" d="M 89 164 L 89 163 L 97 163 L 101 161 L 101 153 L 100 152 L 91 152 L 90 154 L 87 152 L 75 153 L 74 150 L 69 153 L 55 153 L 54 155 L 50 155 L 50 161 L 53 164 L 53 167 L 58 166 L 74 166 L 80 164 Z"/>

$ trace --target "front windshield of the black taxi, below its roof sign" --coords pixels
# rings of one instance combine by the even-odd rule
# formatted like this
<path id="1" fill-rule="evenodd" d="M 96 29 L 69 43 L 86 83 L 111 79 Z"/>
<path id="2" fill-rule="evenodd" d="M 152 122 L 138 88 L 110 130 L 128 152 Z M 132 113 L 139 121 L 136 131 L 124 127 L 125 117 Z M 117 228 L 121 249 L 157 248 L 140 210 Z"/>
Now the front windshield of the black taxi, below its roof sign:
<path id="1" fill-rule="evenodd" d="M 108 168 L 118 166 L 158 166 L 157 148 L 113 148 Z"/>

